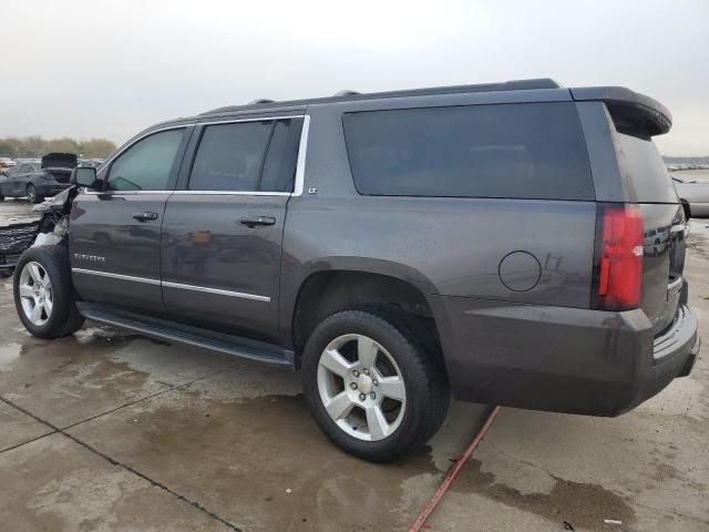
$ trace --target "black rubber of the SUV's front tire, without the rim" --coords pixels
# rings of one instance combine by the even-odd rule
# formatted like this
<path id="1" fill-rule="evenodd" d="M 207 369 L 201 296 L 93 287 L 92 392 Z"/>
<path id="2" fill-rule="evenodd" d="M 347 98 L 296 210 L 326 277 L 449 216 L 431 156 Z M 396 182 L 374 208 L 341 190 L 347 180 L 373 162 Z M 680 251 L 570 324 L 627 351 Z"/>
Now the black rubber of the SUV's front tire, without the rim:
<path id="1" fill-rule="evenodd" d="M 53 306 L 47 323 L 33 324 L 24 314 L 20 298 L 20 277 L 24 265 L 38 263 L 49 276 L 52 286 Z M 69 250 L 65 246 L 38 246 L 27 249 L 18 260 L 12 283 L 14 307 L 18 316 L 32 336 L 38 338 L 60 338 L 79 330 L 84 318 L 76 310 L 74 289 L 69 266 Z"/>

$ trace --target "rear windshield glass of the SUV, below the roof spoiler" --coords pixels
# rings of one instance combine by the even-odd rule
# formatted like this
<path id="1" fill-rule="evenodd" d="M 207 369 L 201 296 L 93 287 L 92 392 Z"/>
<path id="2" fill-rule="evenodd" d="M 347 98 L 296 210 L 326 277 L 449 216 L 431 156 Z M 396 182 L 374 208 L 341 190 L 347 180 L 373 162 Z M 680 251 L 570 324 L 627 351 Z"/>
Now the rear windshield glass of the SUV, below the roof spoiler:
<path id="1" fill-rule="evenodd" d="M 618 133 L 620 160 L 639 203 L 679 203 L 660 153 L 653 141 Z"/>

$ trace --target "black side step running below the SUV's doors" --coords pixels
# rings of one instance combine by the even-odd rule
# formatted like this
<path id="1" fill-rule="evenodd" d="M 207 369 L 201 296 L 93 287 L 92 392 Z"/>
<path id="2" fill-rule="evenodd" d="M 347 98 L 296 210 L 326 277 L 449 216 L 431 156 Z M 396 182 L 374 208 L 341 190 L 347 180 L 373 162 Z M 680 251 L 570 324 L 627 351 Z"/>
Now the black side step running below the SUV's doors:
<path id="1" fill-rule="evenodd" d="M 92 303 L 76 303 L 86 319 L 134 330 L 143 336 L 296 369 L 294 351 L 264 341 L 202 329 Z"/>

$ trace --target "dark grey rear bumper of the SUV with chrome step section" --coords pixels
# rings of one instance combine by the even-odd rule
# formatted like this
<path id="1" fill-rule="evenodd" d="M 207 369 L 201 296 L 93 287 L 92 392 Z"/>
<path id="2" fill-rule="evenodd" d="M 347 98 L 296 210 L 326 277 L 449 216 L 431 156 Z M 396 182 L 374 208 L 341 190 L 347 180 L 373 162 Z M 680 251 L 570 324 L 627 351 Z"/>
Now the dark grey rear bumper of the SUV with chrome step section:
<path id="1" fill-rule="evenodd" d="M 697 317 L 687 305 L 654 338 L 640 309 L 607 313 L 433 296 L 453 395 L 535 410 L 617 416 L 691 371 Z"/>

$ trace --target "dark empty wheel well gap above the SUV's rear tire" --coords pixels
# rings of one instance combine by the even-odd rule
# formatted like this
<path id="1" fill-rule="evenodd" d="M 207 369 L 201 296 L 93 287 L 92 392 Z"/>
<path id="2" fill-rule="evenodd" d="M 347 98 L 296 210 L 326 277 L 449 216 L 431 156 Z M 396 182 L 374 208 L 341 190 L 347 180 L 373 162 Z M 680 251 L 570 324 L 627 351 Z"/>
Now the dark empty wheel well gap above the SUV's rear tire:
<path id="1" fill-rule="evenodd" d="M 423 293 L 397 277 L 362 272 L 320 272 L 300 287 L 292 318 L 294 346 L 301 351 L 312 330 L 339 310 L 392 305 L 418 318 L 438 339 L 433 313 Z"/>

